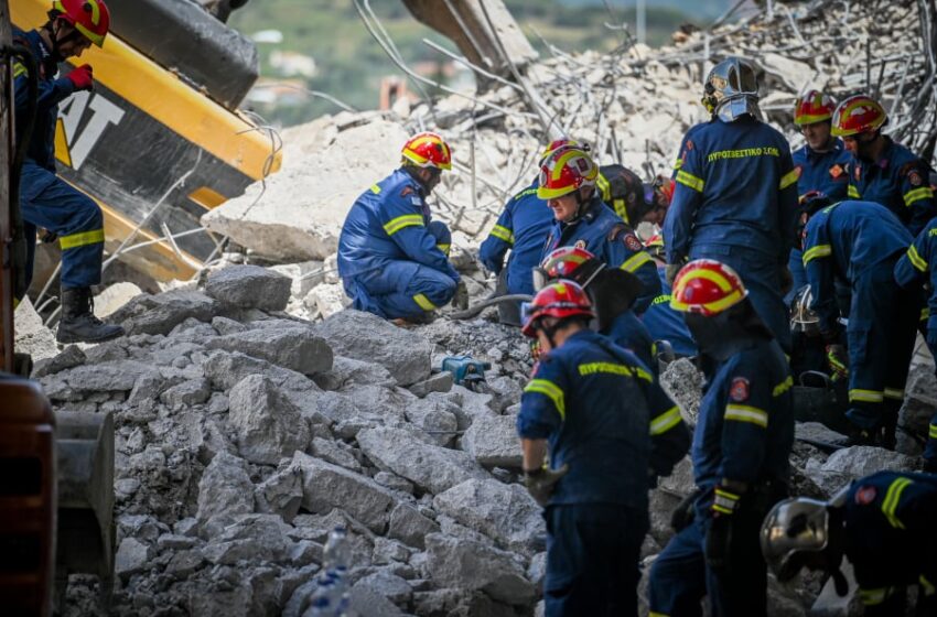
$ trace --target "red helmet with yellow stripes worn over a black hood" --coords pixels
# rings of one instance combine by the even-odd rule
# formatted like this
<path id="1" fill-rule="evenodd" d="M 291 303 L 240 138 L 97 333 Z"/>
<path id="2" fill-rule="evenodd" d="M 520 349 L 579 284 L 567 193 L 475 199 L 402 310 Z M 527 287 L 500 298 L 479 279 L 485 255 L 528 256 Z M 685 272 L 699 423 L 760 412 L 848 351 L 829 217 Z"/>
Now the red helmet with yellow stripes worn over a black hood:
<path id="1" fill-rule="evenodd" d="M 712 317 L 748 295 L 735 270 L 712 259 L 687 263 L 674 281 L 670 307 Z"/>

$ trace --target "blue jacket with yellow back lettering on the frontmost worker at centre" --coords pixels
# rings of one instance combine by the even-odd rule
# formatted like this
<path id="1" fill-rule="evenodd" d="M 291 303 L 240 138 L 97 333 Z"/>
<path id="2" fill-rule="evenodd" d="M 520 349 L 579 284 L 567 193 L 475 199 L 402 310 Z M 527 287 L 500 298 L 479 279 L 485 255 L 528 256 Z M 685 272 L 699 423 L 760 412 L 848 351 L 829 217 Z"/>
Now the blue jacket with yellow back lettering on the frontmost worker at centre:
<path id="1" fill-rule="evenodd" d="M 540 358 L 520 399 L 517 433 L 548 440 L 552 468 L 569 464 L 550 505 L 647 508 L 653 381 L 632 353 L 592 331 Z"/>

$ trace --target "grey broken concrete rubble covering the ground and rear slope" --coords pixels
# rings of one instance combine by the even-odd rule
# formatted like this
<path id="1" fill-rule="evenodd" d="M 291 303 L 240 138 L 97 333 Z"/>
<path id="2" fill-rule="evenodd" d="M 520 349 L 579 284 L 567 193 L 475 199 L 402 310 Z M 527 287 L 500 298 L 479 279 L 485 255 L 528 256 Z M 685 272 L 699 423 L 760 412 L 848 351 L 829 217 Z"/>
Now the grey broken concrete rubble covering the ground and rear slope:
<path id="1" fill-rule="evenodd" d="M 764 69 L 763 108 L 797 143 L 795 96 L 808 86 L 839 96 L 861 89 L 868 35 L 881 46 L 876 57 L 891 58 L 870 71 L 884 75 L 879 91 L 894 109 L 891 130 L 923 143 L 930 128 L 911 120 L 918 107 L 933 108 L 934 94 L 914 94 L 929 71 L 917 3 L 773 7 L 773 17 L 688 34 L 672 47 L 579 56 L 551 47 L 526 78 L 560 127 L 542 126 L 518 87 L 495 83 L 476 101 L 451 96 L 432 109 L 343 112 L 289 129 L 282 171 L 203 218 L 246 255 L 227 253 L 170 291 L 122 290 L 132 300 L 107 307 L 107 320 L 127 328 L 120 339 L 56 355 L 52 333 L 31 328 L 35 349 L 44 349 L 34 377 L 54 408 L 114 413 L 119 581 L 111 614 L 299 617 L 337 524 L 353 545 L 356 614 L 542 610 L 546 530 L 521 484 L 514 432 L 531 368 L 527 344 L 494 323 L 493 310 L 454 322 L 446 307 L 413 328 L 348 310 L 335 273 L 341 224 L 354 198 L 396 166 L 410 132 L 443 132 L 456 171 L 443 176 L 433 208 L 453 228 L 452 260 L 470 293 L 483 297 L 494 282 L 475 262 L 477 243 L 534 176 L 549 132 L 591 141 L 602 162 L 667 173 L 683 131 L 703 119 L 702 76 L 730 54 Z M 440 374 L 449 355 L 491 362 L 488 390 Z M 692 364 L 672 364 L 663 383 L 694 422 L 702 378 Z M 935 401 L 933 360 L 922 356 L 901 425 L 919 434 Z M 798 435 L 841 439 L 809 425 Z M 798 442 L 794 491 L 823 498 L 879 468 L 914 469 L 919 447 L 907 436 L 895 453 L 830 455 Z M 647 562 L 692 488 L 685 461 L 650 492 Z M 773 587 L 771 614 L 806 615 L 819 593 L 819 585 Z M 75 576 L 65 615 L 95 606 L 94 578 Z"/>

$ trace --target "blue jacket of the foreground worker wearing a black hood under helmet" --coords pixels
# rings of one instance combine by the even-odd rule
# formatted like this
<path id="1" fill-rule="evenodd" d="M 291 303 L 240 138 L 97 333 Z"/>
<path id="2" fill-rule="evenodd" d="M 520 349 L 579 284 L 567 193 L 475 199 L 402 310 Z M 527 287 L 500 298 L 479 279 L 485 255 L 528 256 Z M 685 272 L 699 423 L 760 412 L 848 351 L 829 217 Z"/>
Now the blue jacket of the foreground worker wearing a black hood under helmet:
<path id="1" fill-rule="evenodd" d="M 794 444 L 794 380 L 776 340 L 752 340 L 719 365 L 693 431 L 697 486 L 722 478 L 751 485 L 788 480 Z"/>

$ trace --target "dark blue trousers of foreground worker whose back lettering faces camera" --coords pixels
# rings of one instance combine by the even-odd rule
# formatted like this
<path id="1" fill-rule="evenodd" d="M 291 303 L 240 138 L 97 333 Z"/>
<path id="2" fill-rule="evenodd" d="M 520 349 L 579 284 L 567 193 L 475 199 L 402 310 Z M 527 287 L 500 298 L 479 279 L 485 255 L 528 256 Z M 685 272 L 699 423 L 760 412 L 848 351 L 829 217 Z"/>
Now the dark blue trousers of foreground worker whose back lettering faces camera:
<path id="1" fill-rule="evenodd" d="M 646 509 L 614 504 L 550 506 L 547 617 L 636 615 Z"/>

